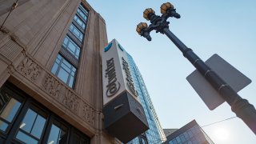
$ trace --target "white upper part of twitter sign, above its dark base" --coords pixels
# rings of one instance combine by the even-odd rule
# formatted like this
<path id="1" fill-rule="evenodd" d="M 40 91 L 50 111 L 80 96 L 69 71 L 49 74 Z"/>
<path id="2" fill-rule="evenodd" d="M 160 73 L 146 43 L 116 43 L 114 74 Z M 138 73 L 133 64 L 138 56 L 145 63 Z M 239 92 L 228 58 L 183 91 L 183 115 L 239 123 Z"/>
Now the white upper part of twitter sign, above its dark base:
<path id="1" fill-rule="evenodd" d="M 112 40 L 102 53 L 103 104 L 106 105 L 124 91 L 139 102 L 126 51 Z"/>

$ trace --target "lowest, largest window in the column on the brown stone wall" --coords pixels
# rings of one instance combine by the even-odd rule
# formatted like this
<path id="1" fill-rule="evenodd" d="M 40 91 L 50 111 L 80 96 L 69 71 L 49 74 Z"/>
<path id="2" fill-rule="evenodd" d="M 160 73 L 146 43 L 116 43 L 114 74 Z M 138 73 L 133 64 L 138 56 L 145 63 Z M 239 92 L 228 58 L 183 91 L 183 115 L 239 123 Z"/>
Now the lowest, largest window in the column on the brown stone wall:
<path id="1" fill-rule="evenodd" d="M 57 75 L 58 78 L 60 78 L 68 86 L 74 87 L 76 68 L 71 65 L 70 62 L 67 62 L 61 54 L 58 54 L 51 72 Z"/>

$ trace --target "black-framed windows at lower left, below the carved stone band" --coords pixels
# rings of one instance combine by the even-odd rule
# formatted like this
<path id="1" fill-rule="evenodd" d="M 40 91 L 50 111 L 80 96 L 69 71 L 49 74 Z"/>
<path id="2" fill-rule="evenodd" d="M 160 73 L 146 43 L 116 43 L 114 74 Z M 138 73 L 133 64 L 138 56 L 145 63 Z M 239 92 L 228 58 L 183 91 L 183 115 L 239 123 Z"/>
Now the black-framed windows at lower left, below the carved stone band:
<path id="1" fill-rule="evenodd" d="M 0 89 L 0 143 L 83 143 L 90 139 L 11 84 Z"/>

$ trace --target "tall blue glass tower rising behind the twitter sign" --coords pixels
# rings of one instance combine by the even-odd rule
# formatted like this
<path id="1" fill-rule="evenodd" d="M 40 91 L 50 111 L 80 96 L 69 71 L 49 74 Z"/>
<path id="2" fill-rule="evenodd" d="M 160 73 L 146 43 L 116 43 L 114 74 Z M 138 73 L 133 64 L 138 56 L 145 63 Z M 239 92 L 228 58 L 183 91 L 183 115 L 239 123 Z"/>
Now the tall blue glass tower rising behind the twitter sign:
<path id="1" fill-rule="evenodd" d="M 119 45 L 120 46 L 120 45 Z M 150 94 L 146 90 L 146 85 L 143 81 L 142 74 L 140 74 L 138 67 L 136 66 L 134 59 L 126 52 L 128 62 L 130 65 L 130 72 L 133 75 L 134 85 L 136 86 L 138 97 L 142 103 L 142 107 L 146 114 L 147 122 L 150 126 L 149 130 L 145 133 L 140 134 L 137 138 L 128 142 L 129 144 L 158 144 L 166 141 L 166 136 L 158 121 L 158 116 L 154 110 L 154 106 L 150 99 Z"/>

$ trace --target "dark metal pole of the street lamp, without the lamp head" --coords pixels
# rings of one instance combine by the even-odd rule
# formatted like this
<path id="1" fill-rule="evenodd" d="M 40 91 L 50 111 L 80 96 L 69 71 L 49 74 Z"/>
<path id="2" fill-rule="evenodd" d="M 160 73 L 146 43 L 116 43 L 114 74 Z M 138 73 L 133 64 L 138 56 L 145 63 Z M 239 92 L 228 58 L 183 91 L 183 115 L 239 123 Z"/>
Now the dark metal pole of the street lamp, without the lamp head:
<path id="1" fill-rule="evenodd" d="M 175 46 L 182 51 L 184 57 L 210 82 L 210 85 L 222 95 L 222 98 L 231 106 L 231 110 L 238 118 L 241 118 L 250 127 L 250 130 L 256 134 L 256 110 L 254 106 L 246 99 L 241 98 L 214 70 L 211 70 L 205 62 L 194 54 L 193 50 L 180 41 L 168 28 L 164 28 L 163 33 L 174 42 Z"/>

